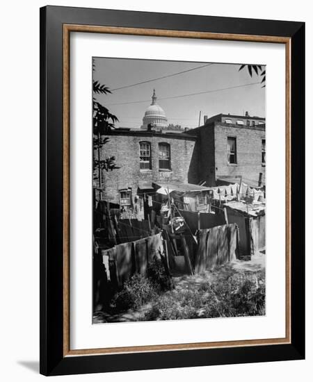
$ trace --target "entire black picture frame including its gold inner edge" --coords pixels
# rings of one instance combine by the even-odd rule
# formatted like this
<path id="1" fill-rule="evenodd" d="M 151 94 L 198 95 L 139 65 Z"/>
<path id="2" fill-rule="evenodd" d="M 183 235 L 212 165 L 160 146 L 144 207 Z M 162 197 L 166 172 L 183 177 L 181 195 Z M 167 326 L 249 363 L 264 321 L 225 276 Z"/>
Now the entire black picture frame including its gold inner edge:
<path id="1" fill-rule="evenodd" d="M 70 349 L 70 33 L 271 42 L 286 49 L 286 335 Z M 305 358 L 305 24 L 40 8 L 40 373 L 115 372 Z"/>

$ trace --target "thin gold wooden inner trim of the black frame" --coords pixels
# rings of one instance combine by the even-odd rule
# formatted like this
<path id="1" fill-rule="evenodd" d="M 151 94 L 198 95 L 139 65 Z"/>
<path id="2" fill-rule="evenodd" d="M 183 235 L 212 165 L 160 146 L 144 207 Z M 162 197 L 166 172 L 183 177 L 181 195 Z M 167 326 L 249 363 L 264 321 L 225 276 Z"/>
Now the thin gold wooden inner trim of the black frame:
<path id="1" fill-rule="evenodd" d="M 111 347 L 99 349 L 70 349 L 70 33 L 113 33 L 172 38 L 272 42 L 285 45 L 286 63 L 286 335 L 284 338 L 239 340 L 222 342 L 196 342 L 137 347 Z M 63 24 L 63 356 L 91 354 L 120 354 L 147 351 L 209 349 L 291 343 L 291 38 L 229 33 L 166 31 L 161 29 L 124 28 L 114 26 L 88 26 Z"/>

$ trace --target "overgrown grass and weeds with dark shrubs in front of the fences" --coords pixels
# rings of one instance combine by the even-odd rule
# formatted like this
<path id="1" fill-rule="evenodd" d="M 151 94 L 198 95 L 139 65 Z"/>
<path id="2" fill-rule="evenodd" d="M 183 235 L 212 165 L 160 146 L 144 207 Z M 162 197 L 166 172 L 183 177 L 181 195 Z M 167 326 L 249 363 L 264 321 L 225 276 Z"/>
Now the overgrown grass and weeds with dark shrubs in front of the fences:
<path id="1" fill-rule="evenodd" d="M 143 306 L 136 320 L 265 315 L 265 274 L 222 266 L 200 276 L 186 276 L 173 288 L 155 259 L 147 277 L 134 275 L 111 302 L 113 313 Z"/>

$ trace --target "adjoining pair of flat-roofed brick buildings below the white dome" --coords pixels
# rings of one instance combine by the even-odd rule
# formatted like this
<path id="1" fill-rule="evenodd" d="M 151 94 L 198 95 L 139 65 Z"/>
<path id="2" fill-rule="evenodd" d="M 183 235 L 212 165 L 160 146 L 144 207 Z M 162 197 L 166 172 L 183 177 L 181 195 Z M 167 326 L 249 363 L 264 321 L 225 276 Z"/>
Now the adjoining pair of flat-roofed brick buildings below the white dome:
<path id="1" fill-rule="evenodd" d="M 153 127 L 117 128 L 106 135 L 102 159 L 115 156 L 120 167 L 103 172 L 103 199 L 134 206 L 136 195 L 153 194 L 154 183 L 206 186 L 265 183 L 265 119 L 219 114 L 204 117 L 204 125 L 182 133 Z M 97 156 L 97 153 L 95 153 Z"/>

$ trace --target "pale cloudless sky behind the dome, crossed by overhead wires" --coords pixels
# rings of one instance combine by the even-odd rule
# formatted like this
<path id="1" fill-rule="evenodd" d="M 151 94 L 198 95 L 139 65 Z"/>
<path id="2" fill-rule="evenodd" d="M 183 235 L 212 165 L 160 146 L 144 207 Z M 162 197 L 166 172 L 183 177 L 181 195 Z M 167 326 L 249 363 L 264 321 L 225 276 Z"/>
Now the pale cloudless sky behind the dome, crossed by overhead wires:
<path id="1" fill-rule="evenodd" d="M 97 95 L 96 99 L 118 117 L 116 127 L 140 128 L 145 109 L 152 102 L 153 89 L 169 124 L 197 127 L 200 111 L 201 124 L 204 115 L 219 113 L 244 115 L 248 111 L 251 116 L 265 117 L 266 88 L 259 83 L 262 78 L 255 74 L 251 78 L 246 67 L 239 72 L 240 65 L 125 58 L 95 58 L 94 63 L 93 79 L 112 91 Z M 200 68 L 190 70 L 196 67 Z M 134 85 L 143 81 L 150 82 Z M 251 83 L 254 85 L 248 85 Z M 134 86 L 118 89 L 129 85 Z M 239 88 L 221 90 L 232 87 Z M 186 96 L 199 92 L 202 94 Z"/>

